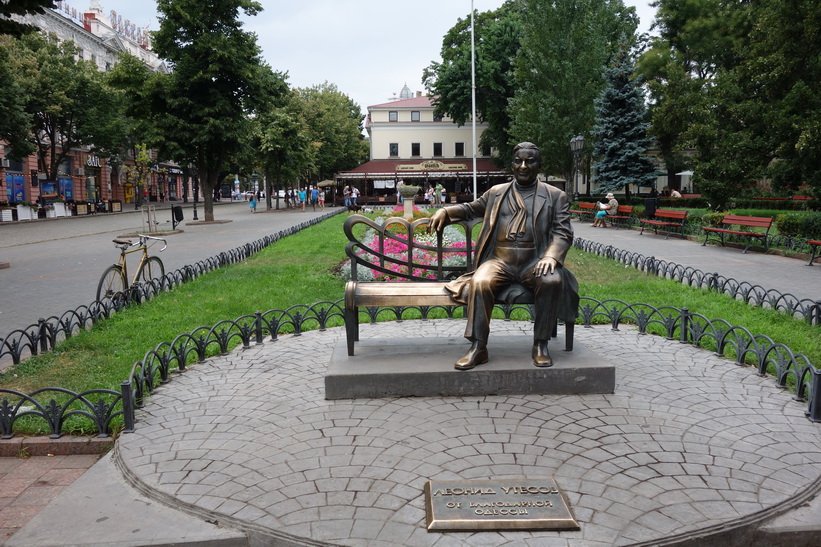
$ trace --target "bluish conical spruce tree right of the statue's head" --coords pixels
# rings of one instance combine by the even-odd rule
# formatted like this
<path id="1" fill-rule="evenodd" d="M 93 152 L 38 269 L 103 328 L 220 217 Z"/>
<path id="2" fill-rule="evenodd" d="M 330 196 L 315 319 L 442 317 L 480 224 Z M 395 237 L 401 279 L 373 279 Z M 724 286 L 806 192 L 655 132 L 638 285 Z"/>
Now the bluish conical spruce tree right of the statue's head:
<path id="1" fill-rule="evenodd" d="M 630 184 L 652 186 L 655 166 L 645 155 L 650 146 L 647 138 L 644 92 L 633 77 L 633 63 L 626 44 L 607 70 L 607 87 L 596 100 L 596 141 L 593 156 L 594 181 L 602 192 L 624 188 L 630 198 Z"/>

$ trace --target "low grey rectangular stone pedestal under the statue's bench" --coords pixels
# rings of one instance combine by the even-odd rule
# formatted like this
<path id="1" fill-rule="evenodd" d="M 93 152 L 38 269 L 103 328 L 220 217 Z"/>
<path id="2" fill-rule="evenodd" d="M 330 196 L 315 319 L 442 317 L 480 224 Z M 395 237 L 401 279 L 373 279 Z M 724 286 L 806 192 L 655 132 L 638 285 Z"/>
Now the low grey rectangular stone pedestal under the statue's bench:
<path id="1" fill-rule="evenodd" d="M 325 398 L 613 393 L 615 367 L 584 344 L 566 352 L 563 336 L 552 340 L 550 368 L 533 366 L 532 345 L 526 336 L 491 336 L 489 362 L 460 371 L 453 364 L 469 347 L 464 338 L 364 339 L 353 356 L 342 340 L 328 364 Z"/>

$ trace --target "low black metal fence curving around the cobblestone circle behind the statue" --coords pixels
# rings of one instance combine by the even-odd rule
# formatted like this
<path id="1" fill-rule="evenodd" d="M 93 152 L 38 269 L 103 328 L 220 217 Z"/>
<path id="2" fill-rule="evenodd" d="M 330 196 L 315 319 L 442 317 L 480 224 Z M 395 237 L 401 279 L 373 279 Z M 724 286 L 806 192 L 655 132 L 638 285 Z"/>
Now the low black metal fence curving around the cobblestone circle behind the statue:
<path id="1" fill-rule="evenodd" d="M 435 313 L 435 310 L 445 313 Z M 463 316 L 463 310 L 463 306 L 401 306 L 364 308 L 361 313 L 367 321 L 375 323 L 410 318 L 426 320 L 443 315 L 452 319 Z M 530 305 L 497 306 L 497 310 L 507 320 L 532 320 L 533 317 Z M 24 418 L 44 421 L 53 437 L 60 436 L 63 424 L 70 417 L 75 420 L 84 418 L 87 429 L 108 436 L 112 420 L 122 416 L 123 430 L 132 432 L 136 427 L 136 409 L 145 404 L 148 395 L 158 385 L 171 381 L 174 372 L 186 370 L 189 364 L 201 362 L 210 355 L 225 354 L 237 344 L 248 348 L 252 344 L 263 344 L 266 339 L 276 341 L 282 333 L 299 336 L 305 330 L 325 330 L 343 322 L 343 300 L 340 299 L 257 312 L 233 321 L 220 321 L 212 327 L 199 327 L 147 352 L 142 361 L 133 365 L 119 393 L 111 390 L 73 393 L 46 388 L 24 394 L 0 389 L 3 438 L 11 437 L 15 422 Z M 686 308 L 629 304 L 620 300 L 600 301 L 589 297 L 581 298 L 579 324 L 584 327 L 608 325 L 614 330 L 630 325 L 641 334 L 657 334 L 669 340 L 712 349 L 738 366 L 750 366 L 762 376 L 771 375 L 776 385 L 792 392 L 795 401 L 806 403 L 808 419 L 821 422 L 821 370 L 805 355 L 795 353 L 769 336 L 754 334 L 724 319 L 708 319 Z"/>

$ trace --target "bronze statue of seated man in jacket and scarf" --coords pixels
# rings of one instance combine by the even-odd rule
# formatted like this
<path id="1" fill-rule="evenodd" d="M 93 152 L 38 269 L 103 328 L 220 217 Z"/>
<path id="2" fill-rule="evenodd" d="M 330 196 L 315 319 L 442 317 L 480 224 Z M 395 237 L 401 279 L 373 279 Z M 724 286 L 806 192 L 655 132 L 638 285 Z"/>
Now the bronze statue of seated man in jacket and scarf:
<path id="1" fill-rule="evenodd" d="M 513 180 L 491 187 L 471 203 L 439 209 L 431 217 L 430 231 L 442 230 L 454 221 L 483 218 L 473 271 L 447 285 L 453 299 L 467 305 L 465 338 L 471 346 L 456 361 L 458 370 L 488 361 L 493 306 L 511 285 L 522 285 L 533 293 L 533 364 L 553 365 L 547 343 L 559 316 L 562 291 L 577 288 L 572 274 L 563 271 L 573 243 L 567 195 L 537 181 L 541 166 L 536 145 L 520 143 L 513 149 Z M 571 283 L 573 287 L 568 286 Z M 578 303 L 577 293 L 574 296 Z"/>

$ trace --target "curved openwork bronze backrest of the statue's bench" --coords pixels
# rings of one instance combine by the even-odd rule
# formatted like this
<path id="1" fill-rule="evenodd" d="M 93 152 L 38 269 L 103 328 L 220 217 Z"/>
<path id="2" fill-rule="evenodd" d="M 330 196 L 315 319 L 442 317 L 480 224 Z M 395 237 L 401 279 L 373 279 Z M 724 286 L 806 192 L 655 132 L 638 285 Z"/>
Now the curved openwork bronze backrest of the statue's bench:
<path id="1" fill-rule="evenodd" d="M 343 229 L 348 238 L 345 253 L 351 259 L 351 280 L 358 280 L 357 266 L 409 281 L 445 281 L 471 271 L 473 234 L 482 219 L 450 224 L 465 234 L 464 245 L 451 247 L 444 246 L 442 232 L 418 238 L 429 223 L 429 218 L 408 222 L 392 217 L 380 225 L 362 215 L 349 216 Z M 408 237 L 414 233 L 417 237 Z"/>

